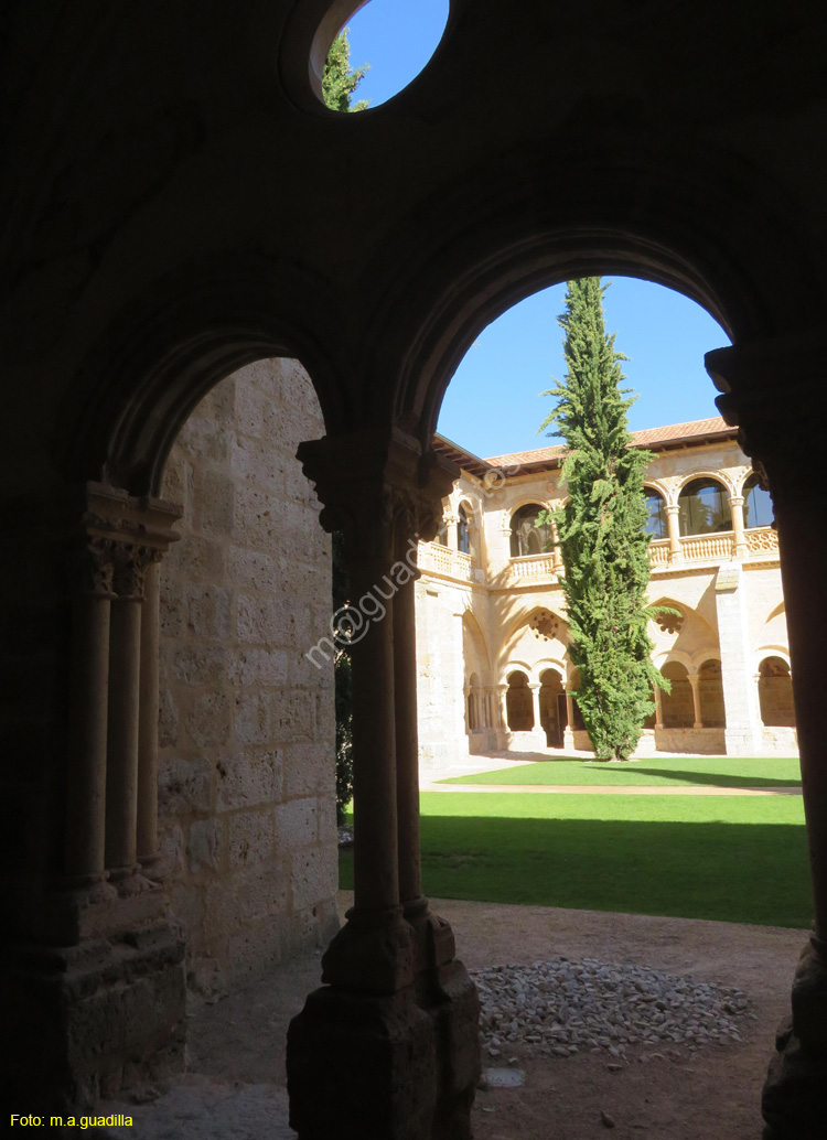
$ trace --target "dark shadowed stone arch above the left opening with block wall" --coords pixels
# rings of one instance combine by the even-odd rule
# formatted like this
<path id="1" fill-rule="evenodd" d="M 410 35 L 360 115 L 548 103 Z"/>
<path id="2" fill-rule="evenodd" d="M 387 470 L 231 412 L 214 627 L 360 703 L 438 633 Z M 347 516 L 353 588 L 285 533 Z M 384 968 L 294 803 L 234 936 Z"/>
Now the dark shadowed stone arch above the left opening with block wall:
<path id="1" fill-rule="evenodd" d="M 68 475 L 157 495 L 193 409 L 226 376 L 260 359 L 300 360 L 327 431 L 340 425 L 339 367 L 298 315 L 301 295 L 339 323 L 323 282 L 265 258 L 216 255 L 154 282 L 113 318 L 79 369 L 57 442 Z"/>

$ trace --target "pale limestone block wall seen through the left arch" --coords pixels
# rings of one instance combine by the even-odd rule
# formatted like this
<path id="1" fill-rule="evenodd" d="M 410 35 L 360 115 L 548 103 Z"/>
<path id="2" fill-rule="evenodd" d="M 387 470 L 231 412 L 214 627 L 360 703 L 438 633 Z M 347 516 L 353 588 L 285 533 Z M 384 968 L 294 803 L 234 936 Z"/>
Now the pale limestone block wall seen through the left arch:
<path id="1" fill-rule="evenodd" d="M 190 985 L 253 976 L 335 931 L 330 540 L 295 456 L 324 433 L 307 374 L 262 360 L 198 405 L 164 496 L 159 812 Z"/>

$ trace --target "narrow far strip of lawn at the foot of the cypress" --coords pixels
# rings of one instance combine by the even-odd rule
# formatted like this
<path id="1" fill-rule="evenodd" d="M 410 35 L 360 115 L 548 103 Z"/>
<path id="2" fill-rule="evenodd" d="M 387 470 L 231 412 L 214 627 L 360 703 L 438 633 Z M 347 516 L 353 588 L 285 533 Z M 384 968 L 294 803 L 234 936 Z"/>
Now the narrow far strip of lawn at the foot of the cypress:
<path id="1" fill-rule="evenodd" d="M 537 760 L 494 772 L 441 780 L 476 784 L 715 784 L 719 788 L 785 788 L 801 785 L 797 759 L 725 756 L 648 757 L 631 764 L 586 760 Z"/>

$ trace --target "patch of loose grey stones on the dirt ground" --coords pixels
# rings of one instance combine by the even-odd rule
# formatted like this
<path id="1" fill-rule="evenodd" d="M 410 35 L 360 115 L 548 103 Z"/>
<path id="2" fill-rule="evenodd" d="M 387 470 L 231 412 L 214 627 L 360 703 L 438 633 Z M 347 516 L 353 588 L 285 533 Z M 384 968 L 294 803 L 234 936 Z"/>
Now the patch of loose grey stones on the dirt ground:
<path id="1" fill-rule="evenodd" d="M 605 1050 L 623 1060 L 629 1045 L 643 1045 L 675 1058 L 678 1045 L 692 1052 L 740 1041 L 744 1020 L 755 1020 L 740 990 L 592 958 L 494 966 L 472 977 L 489 1057 L 519 1043 L 549 1057 Z"/>

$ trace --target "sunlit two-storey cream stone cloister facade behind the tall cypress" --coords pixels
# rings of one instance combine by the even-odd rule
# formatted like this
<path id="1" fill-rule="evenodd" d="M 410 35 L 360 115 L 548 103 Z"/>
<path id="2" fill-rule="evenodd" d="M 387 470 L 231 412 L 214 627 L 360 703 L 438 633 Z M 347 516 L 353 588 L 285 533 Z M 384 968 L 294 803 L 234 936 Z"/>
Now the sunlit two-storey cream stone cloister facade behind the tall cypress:
<path id="1" fill-rule="evenodd" d="M 772 504 L 720 418 L 635 433 L 651 450 L 652 659 L 672 684 L 639 755 L 794 755 L 789 650 Z M 461 467 L 445 526 L 420 547 L 420 756 L 440 772 L 469 754 L 590 752 L 567 653 L 562 565 L 543 507 L 566 497 L 559 447 Z"/>

